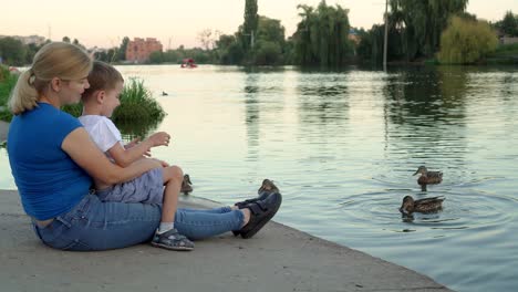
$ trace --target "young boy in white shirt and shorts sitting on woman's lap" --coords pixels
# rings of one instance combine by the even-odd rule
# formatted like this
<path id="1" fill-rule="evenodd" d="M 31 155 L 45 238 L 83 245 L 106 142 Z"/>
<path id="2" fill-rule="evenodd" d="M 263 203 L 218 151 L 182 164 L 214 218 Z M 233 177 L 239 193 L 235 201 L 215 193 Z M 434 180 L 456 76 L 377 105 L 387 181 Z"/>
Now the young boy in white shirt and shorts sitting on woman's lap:
<path id="1" fill-rule="evenodd" d="M 144 155 L 148 154 L 152 147 L 169 144 L 170 136 L 159 132 L 141 143 L 133 140 L 123 145 L 121 132 L 110 117 L 121 104 L 124 79 L 112 65 L 94 61 L 87 80 L 90 88 L 82 95 L 83 114 L 79 119 L 114 164 L 127 167 L 137 159 L 149 159 Z M 104 201 L 162 204 L 162 220 L 152 244 L 170 250 L 193 250 L 194 243 L 179 234 L 174 226 L 178 195 L 184 180 L 182 168 L 160 163 L 163 168 L 153 169 L 123 184 L 110 186 L 103 181 L 95 181 L 96 194 Z"/>

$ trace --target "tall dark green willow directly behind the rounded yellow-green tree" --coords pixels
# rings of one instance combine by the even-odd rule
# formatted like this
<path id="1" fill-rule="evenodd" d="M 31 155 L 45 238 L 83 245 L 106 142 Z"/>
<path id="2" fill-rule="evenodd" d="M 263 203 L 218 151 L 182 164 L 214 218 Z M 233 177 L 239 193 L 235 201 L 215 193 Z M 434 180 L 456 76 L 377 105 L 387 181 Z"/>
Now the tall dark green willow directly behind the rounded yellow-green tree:
<path id="1" fill-rule="evenodd" d="M 390 0 L 390 21 L 402 31 L 406 58 L 432 56 L 448 19 L 464 12 L 468 0 Z"/>

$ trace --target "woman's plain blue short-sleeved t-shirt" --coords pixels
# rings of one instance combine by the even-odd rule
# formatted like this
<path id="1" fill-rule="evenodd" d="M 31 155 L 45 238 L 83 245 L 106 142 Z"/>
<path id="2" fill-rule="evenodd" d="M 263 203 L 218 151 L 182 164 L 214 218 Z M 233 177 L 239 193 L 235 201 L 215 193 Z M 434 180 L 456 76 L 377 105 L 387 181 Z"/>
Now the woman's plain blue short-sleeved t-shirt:
<path id="1" fill-rule="evenodd" d="M 8 155 L 23 209 L 38 220 L 70 211 L 87 192 L 91 177 L 61 148 L 81 127 L 77 118 L 50 104 L 14 116 Z"/>

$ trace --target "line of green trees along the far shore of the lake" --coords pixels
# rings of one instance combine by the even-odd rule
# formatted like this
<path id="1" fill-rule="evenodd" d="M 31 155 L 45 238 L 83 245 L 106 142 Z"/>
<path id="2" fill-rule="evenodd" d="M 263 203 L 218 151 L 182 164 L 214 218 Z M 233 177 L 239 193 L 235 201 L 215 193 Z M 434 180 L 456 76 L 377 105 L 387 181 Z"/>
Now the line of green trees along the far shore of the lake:
<path id="1" fill-rule="evenodd" d="M 476 63 L 501 49 L 499 35 L 518 36 L 518 17 L 506 12 L 503 20 L 486 23 L 466 12 L 468 0 L 388 0 L 387 13 L 390 62 L 436 61 L 443 63 Z M 353 62 L 381 64 L 385 24 L 369 30 L 353 30 L 360 42 L 351 42 L 349 10 L 328 6 L 299 4 L 300 21 L 296 32 L 287 36 L 280 20 L 258 14 L 258 0 L 246 0 L 244 22 L 234 34 L 200 32 L 203 48 L 180 45 L 165 52 L 154 52 L 149 63 L 180 63 L 193 58 L 197 63 L 235 65 L 309 65 L 341 66 Z M 70 38 L 63 41 L 71 42 Z M 73 43 L 81 45 L 74 39 Z M 110 63 L 125 61 L 130 39 L 118 46 L 94 52 L 97 60 Z M 0 39 L 0 56 L 4 63 L 30 63 L 39 46 L 24 45 L 12 38 Z M 518 52 L 516 52 L 518 54 Z"/>

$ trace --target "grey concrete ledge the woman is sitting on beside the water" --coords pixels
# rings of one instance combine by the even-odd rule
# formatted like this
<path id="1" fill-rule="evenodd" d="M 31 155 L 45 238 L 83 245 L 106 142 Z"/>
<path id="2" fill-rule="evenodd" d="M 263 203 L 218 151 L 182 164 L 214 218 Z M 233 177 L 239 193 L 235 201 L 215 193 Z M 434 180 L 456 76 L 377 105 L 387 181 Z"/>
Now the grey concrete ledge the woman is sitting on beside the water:
<path id="1" fill-rule="evenodd" d="M 183 207 L 216 202 L 188 197 Z M 43 246 L 17 191 L 0 190 L 2 291 L 450 291 L 432 279 L 280 223 L 230 232 L 193 252 L 139 244 L 103 252 Z"/>

